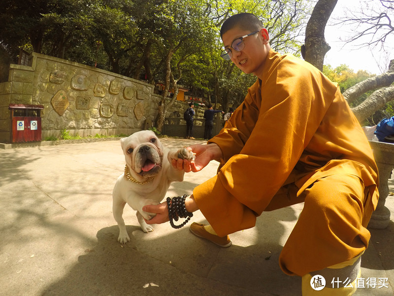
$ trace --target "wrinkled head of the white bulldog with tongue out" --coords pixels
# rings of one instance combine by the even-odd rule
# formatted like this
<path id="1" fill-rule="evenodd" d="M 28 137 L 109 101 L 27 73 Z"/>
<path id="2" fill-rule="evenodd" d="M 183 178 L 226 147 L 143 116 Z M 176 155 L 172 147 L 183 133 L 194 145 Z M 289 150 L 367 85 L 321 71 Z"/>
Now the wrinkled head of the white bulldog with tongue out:
<path id="1" fill-rule="evenodd" d="M 152 131 L 140 131 L 121 139 L 126 163 L 143 178 L 155 176 L 162 169 L 163 146 Z"/>

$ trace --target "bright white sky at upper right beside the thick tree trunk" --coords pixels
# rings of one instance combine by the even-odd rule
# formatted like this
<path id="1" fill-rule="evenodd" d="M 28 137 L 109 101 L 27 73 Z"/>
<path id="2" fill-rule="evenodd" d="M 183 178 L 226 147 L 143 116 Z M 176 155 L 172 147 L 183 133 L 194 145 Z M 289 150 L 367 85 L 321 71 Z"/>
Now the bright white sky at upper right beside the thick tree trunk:
<path id="1" fill-rule="evenodd" d="M 325 30 L 326 41 L 331 46 L 331 49 L 325 57 L 325 65 L 329 64 L 332 68 L 336 68 L 341 64 L 346 64 L 350 69 L 353 69 L 355 73 L 357 73 L 358 70 L 366 70 L 370 74 L 382 74 L 378 66 L 378 64 L 380 64 L 383 72 L 387 71 L 389 66 L 388 62 L 394 59 L 394 52 L 391 52 L 389 57 L 387 57 L 387 54 L 378 50 L 378 48 L 371 50 L 367 47 L 357 46 L 360 44 L 357 43 L 357 41 L 354 41 L 352 45 L 345 44 L 341 39 L 349 36 L 355 28 L 350 26 L 330 25 L 332 22 L 338 22 L 337 20 L 335 21 L 335 19 L 343 17 L 348 9 L 357 11 L 367 4 L 381 6 L 379 0 L 338 0 Z M 393 15 L 392 21 L 394 21 Z M 386 39 L 385 44 L 386 43 L 388 45 L 387 48 L 394 48 L 394 33 L 392 33 L 390 39 Z M 374 54 L 372 54 L 372 51 Z"/>

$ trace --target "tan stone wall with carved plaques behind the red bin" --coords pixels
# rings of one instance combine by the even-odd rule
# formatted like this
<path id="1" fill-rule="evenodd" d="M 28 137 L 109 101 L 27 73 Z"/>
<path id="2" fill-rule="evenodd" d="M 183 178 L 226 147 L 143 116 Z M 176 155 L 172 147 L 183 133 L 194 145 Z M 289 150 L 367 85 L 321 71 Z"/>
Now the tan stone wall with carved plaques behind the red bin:
<path id="1" fill-rule="evenodd" d="M 10 139 L 9 104 L 43 105 L 42 139 L 70 134 L 131 134 L 154 121 L 153 85 L 90 66 L 33 53 L 30 66 L 10 65 L 0 83 L 0 142 Z"/>

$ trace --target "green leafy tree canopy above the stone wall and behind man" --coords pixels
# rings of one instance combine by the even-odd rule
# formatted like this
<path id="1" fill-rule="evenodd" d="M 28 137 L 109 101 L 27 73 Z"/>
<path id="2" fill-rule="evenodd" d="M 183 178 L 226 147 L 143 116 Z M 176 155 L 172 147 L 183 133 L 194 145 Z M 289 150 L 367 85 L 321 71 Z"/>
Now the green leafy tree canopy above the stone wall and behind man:
<path id="1" fill-rule="evenodd" d="M 305 35 L 305 59 L 314 64 L 316 58 L 320 69 L 329 49 L 323 48 L 324 27 L 336 2 L 318 0 L 312 7 L 308 0 L 0 0 L 0 64 L 15 63 L 23 48 L 148 83 L 160 81 L 162 94 L 174 90 L 169 104 L 183 85 L 193 96 L 227 110 L 242 102 L 256 78 L 220 58 L 219 28 L 225 19 L 239 12 L 256 14 L 269 32 L 271 47 L 281 53 L 299 56 L 298 40 Z M 393 11 L 393 0 L 380 2 Z M 381 11 L 379 18 L 362 13 L 361 21 L 373 26 L 363 33 L 384 28 L 384 40 L 392 32 L 388 13 Z M 317 52 L 309 41 L 322 50 Z M 368 76 L 346 66 L 327 66 L 326 74 L 343 91 Z M 159 130 L 169 107 L 164 97 L 156 120 Z"/>

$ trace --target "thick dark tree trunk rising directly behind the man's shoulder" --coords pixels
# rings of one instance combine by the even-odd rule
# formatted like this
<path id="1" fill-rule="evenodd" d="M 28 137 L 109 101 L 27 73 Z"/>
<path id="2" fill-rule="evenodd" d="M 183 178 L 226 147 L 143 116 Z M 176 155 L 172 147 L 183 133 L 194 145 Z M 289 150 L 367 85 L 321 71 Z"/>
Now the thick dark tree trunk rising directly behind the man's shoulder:
<path id="1" fill-rule="evenodd" d="M 324 57 L 330 46 L 324 37 L 327 21 L 338 0 L 319 0 L 306 25 L 305 45 L 301 47 L 301 54 L 305 61 L 323 71 Z"/>

